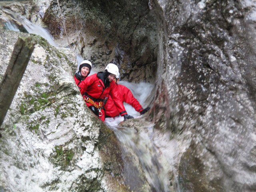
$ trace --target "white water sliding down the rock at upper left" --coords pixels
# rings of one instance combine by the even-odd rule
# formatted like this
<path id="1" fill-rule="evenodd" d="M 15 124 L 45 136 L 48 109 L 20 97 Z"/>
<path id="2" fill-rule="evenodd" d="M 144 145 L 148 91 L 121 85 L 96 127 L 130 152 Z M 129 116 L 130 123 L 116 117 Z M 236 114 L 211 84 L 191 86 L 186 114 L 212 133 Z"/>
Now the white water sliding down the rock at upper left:
<path id="1" fill-rule="evenodd" d="M 50 35 L 49 31 L 47 29 L 42 28 L 41 26 L 38 26 L 36 24 L 33 24 L 30 22 L 30 20 L 26 19 L 24 16 L 20 16 L 11 10 L 8 9 L 2 9 L 6 14 L 8 14 L 13 20 L 16 20 L 22 26 L 28 31 L 28 33 L 40 35 L 41 37 L 45 38 L 51 45 L 58 47 L 57 44 L 52 40 L 52 36 Z M 6 20 L 6 27 L 9 30 L 18 29 L 16 24 L 13 22 L 10 22 L 8 18 L 5 18 Z"/>

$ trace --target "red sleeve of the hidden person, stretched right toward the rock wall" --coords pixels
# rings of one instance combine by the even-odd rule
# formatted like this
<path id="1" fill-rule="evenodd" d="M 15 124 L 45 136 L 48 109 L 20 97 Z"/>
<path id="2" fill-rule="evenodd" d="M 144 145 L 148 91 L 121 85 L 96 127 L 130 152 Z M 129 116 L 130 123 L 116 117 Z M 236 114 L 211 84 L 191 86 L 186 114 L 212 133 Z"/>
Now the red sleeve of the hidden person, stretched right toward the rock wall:
<path id="1" fill-rule="evenodd" d="M 132 92 L 130 89 L 128 89 L 126 86 L 123 85 L 118 85 L 122 89 L 122 96 L 123 96 L 123 101 L 131 105 L 136 111 L 140 112 L 143 110 L 142 106 L 138 102 L 136 98 L 134 98 Z"/>

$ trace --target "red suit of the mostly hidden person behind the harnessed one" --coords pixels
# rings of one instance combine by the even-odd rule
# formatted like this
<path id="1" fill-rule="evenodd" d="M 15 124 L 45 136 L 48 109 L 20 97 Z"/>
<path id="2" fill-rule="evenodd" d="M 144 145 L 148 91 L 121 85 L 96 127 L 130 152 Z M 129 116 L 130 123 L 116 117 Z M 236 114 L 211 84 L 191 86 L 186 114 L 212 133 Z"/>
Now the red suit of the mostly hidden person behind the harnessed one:
<path id="1" fill-rule="evenodd" d="M 143 110 L 138 100 L 134 98 L 130 89 L 128 89 L 126 86 L 123 86 L 123 85 L 117 85 L 116 87 L 122 102 L 128 103 L 138 112 L 141 112 Z M 106 116 L 115 117 L 119 115 L 119 112 L 111 96 L 109 96 L 108 101 L 106 102 L 105 109 L 106 109 Z"/>

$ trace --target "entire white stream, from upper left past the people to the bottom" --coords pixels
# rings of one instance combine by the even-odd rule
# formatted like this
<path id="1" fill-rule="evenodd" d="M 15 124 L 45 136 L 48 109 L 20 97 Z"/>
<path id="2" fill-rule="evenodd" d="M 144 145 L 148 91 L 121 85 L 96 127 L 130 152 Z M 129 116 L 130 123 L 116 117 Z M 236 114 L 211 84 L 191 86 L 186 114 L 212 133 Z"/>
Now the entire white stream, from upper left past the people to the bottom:
<path id="1" fill-rule="evenodd" d="M 18 30 L 18 26 L 15 24 L 16 22 L 19 22 L 22 24 L 22 26 L 32 34 L 38 34 L 42 37 L 44 37 L 48 42 L 54 46 L 56 44 L 54 43 L 54 40 L 52 40 L 52 36 L 50 36 L 50 33 L 47 29 L 42 28 L 41 26 L 37 26 L 35 24 L 32 24 L 29 20 L 24 18 L 23 16 L 20 16 L 18 14 L 15 14 L 14 12 L 6 9 L 2 9 L 7 15 L 9 15 L 9 18 L 4 18 L 6 20 L 5 22 L 5 28 L 9 30 Z M 12 21 L 12 18 L 14 21 Z M 84 60 L 80 55 L 77 55 L 77 62 L 80 64 L 80 62 Z M 90 75 L 96 73 L 95 71 L 91 71 Z M 134 97 L 140 102 L 142 107 L 146 108 L 149 104 L 148 96 L 150 96 L 152 93 L 153 85 L 149 83 L 140 82 L 138 84 L 130 83 L 126 81 L 120 81 L 119 84 L 122 84 L 129 88 L 132 93 L 134 94 Z M 141 115 L 132 108 L 132 106 L 124 103 L 124 106 L 126 108 L 126 111 L 129 115 L 134 116 L 134 118 L 140 118 Z M 123 146 L 124 152 L 132 151 L 133 154 L 137 156 L 140 162 L 140 166 L 143 169 L 143 172 L 146 176 L 147 182 L 150 184 L 152 191 L 154 192 L 168 192 L 168 177 L 166 176 L 166 172 L 163 168 L 163 166 L 160 164 L 158 158 L 158 151 L 156 150 L 156 147 L 154 146 L 152 142 L 153 137 L 153 127 L 148 127 L 147 133 L 141 132 L 140 134 L 137 133 L 137 131 L 134 128 L 125 128 L 125 127 L 119 127 L 118 124 L 124 120 L 123 117 L 119 116 L 116 118 L 106 118 L 106 124 L 107 126 L 114 131 L 116 134 L 118 140 Z M 125 164 L 126 162 L 124 162 Z M 126 170 L 129 172 L 129 170 Z M 132 173 L 131 173 L 132 174 Z M 129 175 L 129 173 L 128 173 Z M 179 192 L 180 190 L 176 190 Z"/>

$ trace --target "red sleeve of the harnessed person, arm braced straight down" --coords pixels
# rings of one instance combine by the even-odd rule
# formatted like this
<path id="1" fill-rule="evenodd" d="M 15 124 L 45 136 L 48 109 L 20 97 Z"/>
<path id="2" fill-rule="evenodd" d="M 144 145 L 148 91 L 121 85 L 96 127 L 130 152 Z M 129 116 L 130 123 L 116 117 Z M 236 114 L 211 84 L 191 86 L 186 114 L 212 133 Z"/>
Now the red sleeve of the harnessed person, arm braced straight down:
<path id="1" fill-rule="evenodd" d="M 112 97 L 119 114 L 121 116 L 123 116 L 124 114 L 127 114 L 124 108 L 124 104 L 121 100 L 121 95 L 118 94 L 118 90 L 114 81 L 110 82 L 110 96 Z"/>

